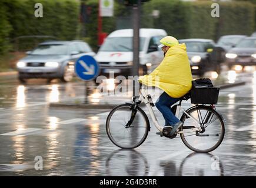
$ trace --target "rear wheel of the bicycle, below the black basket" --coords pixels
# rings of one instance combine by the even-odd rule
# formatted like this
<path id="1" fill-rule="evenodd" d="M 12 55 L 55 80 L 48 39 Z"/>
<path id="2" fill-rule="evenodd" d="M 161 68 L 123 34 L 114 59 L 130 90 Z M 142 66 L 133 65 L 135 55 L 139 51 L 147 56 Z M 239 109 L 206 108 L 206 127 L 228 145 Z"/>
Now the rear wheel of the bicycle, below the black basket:
<path id="1" fill-rule="evenodd" d="M 209 106 L 197 106 L 188 110 L 187 113 L 200 122 L 202 130 L 196 131 L 198 124 L 192 120 L 192 117 L 183 115 L 181 121 L 184 125 L 180 135 L 184 144 L 194 152 L 204 153 L 211 152 L 220 146 L 225 127 L 218 112 Z"/>

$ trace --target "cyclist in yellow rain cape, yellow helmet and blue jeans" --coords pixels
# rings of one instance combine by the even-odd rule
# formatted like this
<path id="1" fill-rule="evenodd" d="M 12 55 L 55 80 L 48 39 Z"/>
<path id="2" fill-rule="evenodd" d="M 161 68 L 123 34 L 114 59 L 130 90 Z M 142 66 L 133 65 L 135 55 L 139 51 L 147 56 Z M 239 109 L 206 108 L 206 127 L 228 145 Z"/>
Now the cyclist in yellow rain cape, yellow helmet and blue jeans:
<path id="1" fill-rule="evenodd" d="M 191 90 L 192 73 L 185 43 L 179 44 L 172 36 L 165 36 L 160 42 L 158 47 L 162 48 L 164 59 L 150 75 L 139 76 L 138 80 L 145 85 L 164 90 L 155 106 L 164 116 L 165 127 L 172 128 L 171 132 L 168 132 L 169 136 L 172 136 L 183 123 L 172 113 L 171 106 Z M 163 134 L 157 132 L 157 135 Z"/>

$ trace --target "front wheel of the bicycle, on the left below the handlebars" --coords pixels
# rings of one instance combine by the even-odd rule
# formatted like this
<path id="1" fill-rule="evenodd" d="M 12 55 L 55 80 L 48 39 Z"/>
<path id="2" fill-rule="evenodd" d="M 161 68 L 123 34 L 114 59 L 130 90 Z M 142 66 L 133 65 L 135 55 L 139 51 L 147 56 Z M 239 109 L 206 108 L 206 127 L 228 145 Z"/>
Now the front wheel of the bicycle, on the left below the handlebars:
<path id="1" fill-rule="evenodd" d="M 132 118 L 131 125 L 128 125 Z M 148 136 L 149 120 L 145 112 L 137 107 L 132 110 L 131 104 L 119 105 L 111 110 L 107 117 L 106 130 L 114 145 L 133 149 L 140 146 Z"/>

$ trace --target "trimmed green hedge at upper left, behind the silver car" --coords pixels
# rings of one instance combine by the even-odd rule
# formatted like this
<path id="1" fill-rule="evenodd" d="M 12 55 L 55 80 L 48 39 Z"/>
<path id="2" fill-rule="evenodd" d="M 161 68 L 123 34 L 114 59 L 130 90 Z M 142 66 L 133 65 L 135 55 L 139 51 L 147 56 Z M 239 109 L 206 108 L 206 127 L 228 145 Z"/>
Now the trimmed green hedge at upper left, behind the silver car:
<path id="1" fill-rule="evenodd" d="M 52 35 L 58 39 L 74 39 L 77 35 L 79 1 L 41 0 L 44 17 L 35 18 L 36 0 L 12 0 L 9 20 L 13 26 L 11 38 L 21 35 Z"/>

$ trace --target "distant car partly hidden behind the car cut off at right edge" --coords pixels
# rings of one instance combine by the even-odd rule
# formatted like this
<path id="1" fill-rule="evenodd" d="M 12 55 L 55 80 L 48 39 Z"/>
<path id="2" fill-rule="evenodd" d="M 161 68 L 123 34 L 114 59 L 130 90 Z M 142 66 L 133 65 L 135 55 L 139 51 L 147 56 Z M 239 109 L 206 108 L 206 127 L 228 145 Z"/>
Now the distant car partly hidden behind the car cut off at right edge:
<path id="1" fill-rule="evenodd" d="M 245 35 L 224 35 L 218 39 L 217 46 L 221 46 L 225 49 L 225 52 L 228 52 L 231 48 L 234 48 L 242 39 L 244 39 Z"/>

